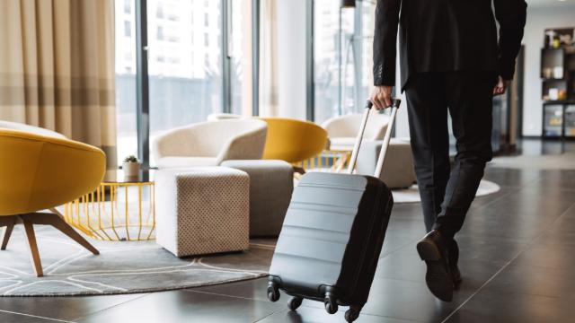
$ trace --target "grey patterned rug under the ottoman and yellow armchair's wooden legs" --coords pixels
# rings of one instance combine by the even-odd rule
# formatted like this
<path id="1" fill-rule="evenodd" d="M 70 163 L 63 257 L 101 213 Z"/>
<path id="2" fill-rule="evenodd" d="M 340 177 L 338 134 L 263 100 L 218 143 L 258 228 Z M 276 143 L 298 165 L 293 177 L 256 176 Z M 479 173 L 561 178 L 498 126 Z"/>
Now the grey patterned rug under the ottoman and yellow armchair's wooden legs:
<path id="1" fill-rule="evenodd" d="M 154 241 L 90 240 L 93 256 L 49 227 L 36 227 L 44 277 L 33 275 L 21 226 L 0 251 L 0 296 L 102 295 L 158 292 L 267 275 L 275 240 L 252 240 L 241 253 L 176 258 Z"/>

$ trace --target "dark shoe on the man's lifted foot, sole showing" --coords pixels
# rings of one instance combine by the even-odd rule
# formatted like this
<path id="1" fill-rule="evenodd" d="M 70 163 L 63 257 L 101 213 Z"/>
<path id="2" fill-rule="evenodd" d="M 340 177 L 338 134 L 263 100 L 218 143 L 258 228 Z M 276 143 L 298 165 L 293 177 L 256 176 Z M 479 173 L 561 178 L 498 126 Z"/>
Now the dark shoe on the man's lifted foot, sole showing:
<path id="1" fill-rule="evenodd" d="M 429 292 L 441 301 L 451 301 L 453 299 L 454 283 L 447 269 L 445 259 L 441 257 L 441 253 L 435 243 L 421 241 L 417 244 L 417 251 L 421 260 L 425 261 L 428 267 L 425 282 L 428 284 Z"/>

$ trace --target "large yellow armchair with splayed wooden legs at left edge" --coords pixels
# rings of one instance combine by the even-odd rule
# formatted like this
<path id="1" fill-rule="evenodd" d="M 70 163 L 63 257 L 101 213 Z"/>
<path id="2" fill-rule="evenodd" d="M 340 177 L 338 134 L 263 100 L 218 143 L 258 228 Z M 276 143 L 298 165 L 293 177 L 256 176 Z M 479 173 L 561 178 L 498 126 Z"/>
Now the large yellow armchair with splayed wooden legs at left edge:
<path id="1" fill-rule="evenodd" d="M 22 223 L 34 270 L 42 276 L 32 225 L 47 224 L 98 255 L 98 250 L 64 221 L 56 206 L 97 188 L 106 168 L 104 153 L 62 136 L 31 132 L 30 127 L 22 127 L 22 131 L 2 126 L 0 123 L 0 227 L 5 229 L 1 249 L 6 248 L 13 226 Z M 51 212 L 41 212 L 47 209 Z"/>

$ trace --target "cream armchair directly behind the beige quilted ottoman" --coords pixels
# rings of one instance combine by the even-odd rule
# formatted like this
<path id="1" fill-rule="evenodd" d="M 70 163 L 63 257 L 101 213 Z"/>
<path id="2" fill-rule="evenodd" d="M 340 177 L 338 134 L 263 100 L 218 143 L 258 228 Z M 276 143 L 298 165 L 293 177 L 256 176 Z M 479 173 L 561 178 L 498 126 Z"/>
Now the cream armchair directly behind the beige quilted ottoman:
<path id="1" fill-rule="evenodd" d="M 261 159 L 266 134 L 266 123 L 258 119 L 200 122 L 159 135 L 152 144 L 152 153 L 161 169 Z"/>

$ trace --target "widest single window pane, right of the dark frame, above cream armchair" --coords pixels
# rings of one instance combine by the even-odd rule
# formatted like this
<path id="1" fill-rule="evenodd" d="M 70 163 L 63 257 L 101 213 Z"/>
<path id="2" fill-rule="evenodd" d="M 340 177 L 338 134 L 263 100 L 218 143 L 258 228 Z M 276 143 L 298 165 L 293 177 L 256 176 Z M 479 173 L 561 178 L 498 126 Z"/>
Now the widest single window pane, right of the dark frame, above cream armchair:
<path id="1" fill-rule="evenodd" d="M 220 1 L 147 1 L 150 142 L 222 110 L 221 27 Z"/>

